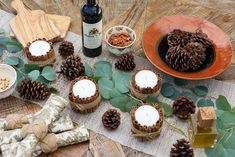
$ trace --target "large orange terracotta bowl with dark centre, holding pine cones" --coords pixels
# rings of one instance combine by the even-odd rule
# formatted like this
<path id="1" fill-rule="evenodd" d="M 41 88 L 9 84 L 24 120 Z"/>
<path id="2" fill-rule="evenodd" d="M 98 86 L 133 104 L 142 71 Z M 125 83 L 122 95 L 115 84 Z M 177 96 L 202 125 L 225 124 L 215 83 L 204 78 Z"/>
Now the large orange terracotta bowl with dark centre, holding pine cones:
<path id="1" fill-rule="evenodd" d="M 195 72 L 179 72 L 170 68 L 163 60 L 161 44 L 167 34 L 174 29 L 194 32 L 201 28 L 213 40 L 213 57 L 208 64 Z M 153 22 L 144 32 L 143 49 L 149 61 L 161 71 L 174 77 L 188 80 L 202 80 L 215 77 L 229 67 L 232 61 L 230 38 L 216 25 L 193 16 L 174 15 Z"/>

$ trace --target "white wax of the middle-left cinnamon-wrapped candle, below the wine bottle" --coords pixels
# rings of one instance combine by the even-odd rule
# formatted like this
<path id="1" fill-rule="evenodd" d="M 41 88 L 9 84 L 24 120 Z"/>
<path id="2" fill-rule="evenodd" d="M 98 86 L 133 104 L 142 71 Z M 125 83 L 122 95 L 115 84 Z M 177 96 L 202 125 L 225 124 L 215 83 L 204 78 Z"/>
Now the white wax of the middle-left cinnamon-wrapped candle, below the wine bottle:
<path id="1" fill-rule="evenodd" d="M 79 98 L 89 98 L 96 93 L 96 85 L 91 80 L 79 80 L 73 86 L 74 96 Z"/>

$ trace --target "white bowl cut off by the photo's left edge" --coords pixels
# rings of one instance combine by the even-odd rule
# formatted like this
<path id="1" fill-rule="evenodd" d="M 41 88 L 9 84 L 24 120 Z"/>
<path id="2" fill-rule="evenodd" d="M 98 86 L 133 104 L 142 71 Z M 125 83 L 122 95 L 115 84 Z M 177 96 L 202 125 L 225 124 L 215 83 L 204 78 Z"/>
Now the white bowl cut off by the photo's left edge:
<path id="1" fill-rule="evenodd" d="M 0 99 L 10 96 L 16 88 L 16 70 L 7 64 L 0 64 L 0 78 L 10 80 L 9 86 L 5 90 L 0 90 Z"/>

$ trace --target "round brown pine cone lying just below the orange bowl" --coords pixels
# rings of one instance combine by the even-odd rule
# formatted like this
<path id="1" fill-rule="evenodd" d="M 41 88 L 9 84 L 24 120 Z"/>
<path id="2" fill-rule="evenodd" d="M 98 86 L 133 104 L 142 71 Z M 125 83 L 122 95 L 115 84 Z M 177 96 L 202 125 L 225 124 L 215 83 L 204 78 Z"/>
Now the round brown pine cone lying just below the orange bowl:
<path id="1" fill-rule="evenodd" d="M 193 100 L 187 96 L 180 96 L 173 103 L 173 114 L 180 119 L 188 119 L 190 114 L 195 113 L 195 109 Z"/>

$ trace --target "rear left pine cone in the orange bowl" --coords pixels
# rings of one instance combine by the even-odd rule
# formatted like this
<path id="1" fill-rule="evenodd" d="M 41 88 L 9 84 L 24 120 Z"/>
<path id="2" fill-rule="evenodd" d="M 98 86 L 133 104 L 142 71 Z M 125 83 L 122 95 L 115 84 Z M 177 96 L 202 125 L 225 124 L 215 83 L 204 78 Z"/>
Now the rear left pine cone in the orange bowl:
<path id="1" fill-rule="evenodd" d="M 191 36 L 190 32 L 174 29 L 167 36 L 168 45 L 184 47 L 190 41 Z"/>

